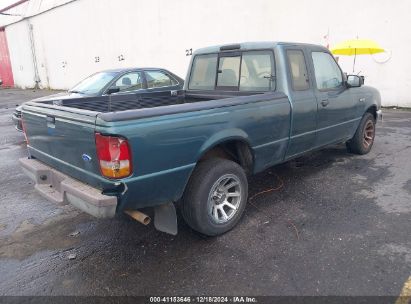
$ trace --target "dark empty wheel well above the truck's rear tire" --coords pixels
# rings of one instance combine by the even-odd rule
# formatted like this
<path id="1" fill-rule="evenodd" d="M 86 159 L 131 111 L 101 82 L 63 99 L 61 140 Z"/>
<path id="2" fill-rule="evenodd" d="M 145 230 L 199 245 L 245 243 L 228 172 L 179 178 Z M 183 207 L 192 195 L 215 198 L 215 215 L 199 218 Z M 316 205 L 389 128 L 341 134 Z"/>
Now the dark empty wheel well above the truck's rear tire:
<path id="1" fill-rule="evenodd" d="M 218 144 L 200 158 L 200 161 L 210 158 L 225 158 L 238 163 L 247 174 L 253 171 L 254 157 L 250 146 L 241 140 L 232 140 Z"/>

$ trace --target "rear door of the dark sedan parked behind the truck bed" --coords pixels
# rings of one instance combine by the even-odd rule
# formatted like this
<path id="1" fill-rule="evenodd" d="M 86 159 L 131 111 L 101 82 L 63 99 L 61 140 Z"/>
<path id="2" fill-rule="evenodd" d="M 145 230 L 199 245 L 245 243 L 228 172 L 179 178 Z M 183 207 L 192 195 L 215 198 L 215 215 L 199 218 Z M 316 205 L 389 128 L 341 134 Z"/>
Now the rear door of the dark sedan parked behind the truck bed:
<path id="1" fill-rule="evenodd" d="M 159 107 L 183 102 L 179 83 L 163 70 L 145 70 L 147 89 L 141 93 L 143 107 Z"/>

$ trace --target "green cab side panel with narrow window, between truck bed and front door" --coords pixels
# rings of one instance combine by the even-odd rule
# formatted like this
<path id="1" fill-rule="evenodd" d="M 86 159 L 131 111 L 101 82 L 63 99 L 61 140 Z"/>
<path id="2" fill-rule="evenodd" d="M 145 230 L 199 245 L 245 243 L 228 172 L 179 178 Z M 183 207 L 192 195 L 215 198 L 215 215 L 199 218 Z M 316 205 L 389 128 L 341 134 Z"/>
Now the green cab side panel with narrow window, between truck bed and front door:
<path id="1" fill-rule="evenodd" d="M 288 48 L 288 96 L 293 104 L 293 123 L 287 158 L 315 147 L 317 130 L 317 99 L 307 68 L 307 54 L 303 49 Z"/>

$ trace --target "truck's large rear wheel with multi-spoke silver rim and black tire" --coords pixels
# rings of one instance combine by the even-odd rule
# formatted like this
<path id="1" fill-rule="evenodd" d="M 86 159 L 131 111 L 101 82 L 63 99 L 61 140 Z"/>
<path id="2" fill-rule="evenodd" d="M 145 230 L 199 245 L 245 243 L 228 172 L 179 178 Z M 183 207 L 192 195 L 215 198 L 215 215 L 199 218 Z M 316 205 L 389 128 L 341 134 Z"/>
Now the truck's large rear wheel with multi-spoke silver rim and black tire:
<path id="1" fill-rule="evenodd" d="M 247 198 L 243 168 L 231 160 L 208 159 L 200 162 L 190 177 L 181 200 L 181 213 L 192 229 L 208 236 L 220 235 L 240 220 Z"/>

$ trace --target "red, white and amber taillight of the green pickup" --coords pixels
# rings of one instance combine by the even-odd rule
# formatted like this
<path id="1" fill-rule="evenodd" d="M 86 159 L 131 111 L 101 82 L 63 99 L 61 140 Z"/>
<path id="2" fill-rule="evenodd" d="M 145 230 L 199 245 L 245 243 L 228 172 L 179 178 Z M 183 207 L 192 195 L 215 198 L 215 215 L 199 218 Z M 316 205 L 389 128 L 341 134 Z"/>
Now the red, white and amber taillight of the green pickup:
<path id="1" fill-rule="evenodd" d="M 131 151 L 125 138 L 96 133 L 96 148 L 103 176 L 123 178 L 132 173 Z"/>

